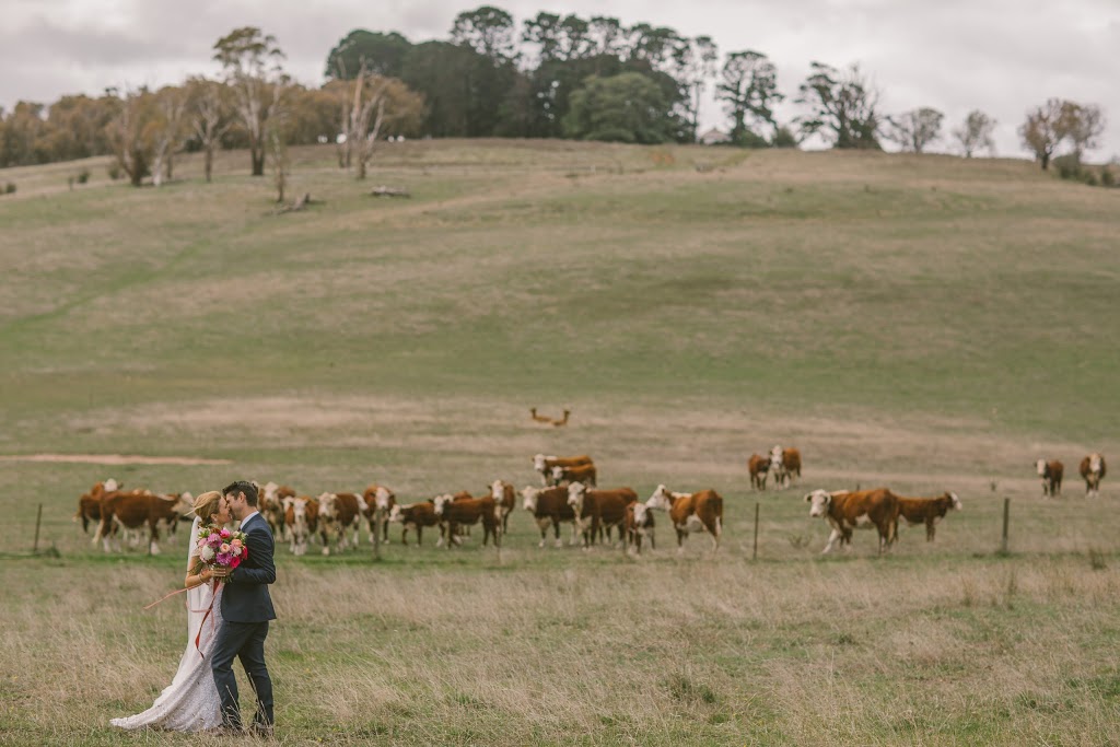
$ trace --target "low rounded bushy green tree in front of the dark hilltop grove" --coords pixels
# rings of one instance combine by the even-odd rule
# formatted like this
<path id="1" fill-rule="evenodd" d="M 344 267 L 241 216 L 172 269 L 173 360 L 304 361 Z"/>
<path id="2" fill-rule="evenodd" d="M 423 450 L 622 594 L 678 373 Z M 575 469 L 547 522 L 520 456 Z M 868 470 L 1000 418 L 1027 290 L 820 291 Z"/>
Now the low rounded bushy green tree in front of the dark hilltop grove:
<path id="1" fill-rule="evenodd" d="M 570 138 L 613 142 L 666 142 L 674 127 L 664 92 L 641 73 L 588 77 L 563 120 Z"/>

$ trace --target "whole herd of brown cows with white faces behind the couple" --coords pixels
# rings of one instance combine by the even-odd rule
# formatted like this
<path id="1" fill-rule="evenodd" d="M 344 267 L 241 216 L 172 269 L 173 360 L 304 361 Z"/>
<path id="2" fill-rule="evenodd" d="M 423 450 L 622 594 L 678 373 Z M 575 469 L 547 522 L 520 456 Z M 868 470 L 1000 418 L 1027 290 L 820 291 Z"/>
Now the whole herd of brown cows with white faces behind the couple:
<path id="1" fill-rule="evenodd" d="M 757 454 L 748 461 L 750 484 L 766 489 L 773 477 L 777 488 L 788 487 L 801 476 L 801 454 L 797 449 L 775 446 L 766 457 Z M 517 496 L 522 508 L 532 517 L 540 532 L 539 547 L 545 547 L 551 530 L 557 547 L 561 547 L 561 527 L 571 527 L 569 544 L 608 542 L 641 553 L 643 544 L 655 547 L 654 513 L 666 514 L 676 535 L 678 551 L 691 533 L 707 533 L 712 549 L 719 548 L 724 524 L 724 498 L 713 489 L 679 493 L 659 485 L 645 501 L 629 487 L 601 489 L 598 469 L 589 456 L 557 457 L 538 454 L 533 468 L 540 486 L 526 485 L 520 492 L 513 484 L 495 479 L 477 496 L 466 491 L 442 493 L 427 501 L 401 503 L 384 485 L 373 484 L 363 493 L 321 493 L 302 495 L 286 485 L 267 483 L 260 486 L 260 511 L 273 533 L 288 543 L 292 554 L 307 552 L 311 541 L 318 541 L 323 554 L 332 547 L 345 551 L 357 547 L 363 527 L 370 542 L 388 543 L 389 525 L 401 525 L 401 543 L 408 544 L 410 531 L 416 543 L 422 543 L 423 530 L 438 531 L 437 547 L 450 549 L 461 544 L 463 536 L 475 525 L 482 525 L 483 545 L 501 547 L 508 531 L 510 516 L 515 512 Z M 1061 461 L 1039 459 L 1036 465 L 1043 482 L 1043 494 L 1056 496 L 1062 489 Z M 1086 495 L 1098 496 L 1105 475 L 1104 458 L 1091 454 L 1081 461 Z M 815 489 L 804 496 L 811 517 L 824 517 L 832 527 L 824 547 L 830 552 L 851 542 L 852 531 L 874 527 L 879 536 L 879 552 L 886 552 L 898 539 L 899 521 L 925 525 L 926 540 L 933 541 L 935 524 L 948 512 L 961 508 L 955 493 L 935 497 L 905 497 L 880 487 L 870 491 Z M 97 523 L 93 542 L 111 550 L 111 540 L 131 536 L 138 543 L 147 530 L 149 552 L 158 553 L 160 527 L 174 534 L 181 520 L 189 520 L 189 493 L 160 495 L 150 491 L 124 491 L 114 479 L 97 483 L 78 499 L 75 521 L 83 530 Z"/>

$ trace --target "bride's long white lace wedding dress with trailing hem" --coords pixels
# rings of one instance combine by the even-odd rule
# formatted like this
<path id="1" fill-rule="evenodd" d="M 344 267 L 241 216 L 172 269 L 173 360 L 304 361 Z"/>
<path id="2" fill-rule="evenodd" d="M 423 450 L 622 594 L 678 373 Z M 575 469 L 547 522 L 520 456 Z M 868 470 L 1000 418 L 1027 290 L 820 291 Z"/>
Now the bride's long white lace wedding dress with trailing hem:
<path id="1" fill-rule="evenodd" d="M 197 554 L 194 538 L 198 535 L 199 520 L 190 525 L 192 538 L 188 561 Z M 222 701 L 211 673 L 211 651 L 222 627 L 222 588 L 211 590 L 203 583 L 187 595 L 187 650 L 179 659 L 179 670 L 171 684 L 159 694 L 151 708 L 142 713 L 121 719 L 110 719 L 110 723 L 122 729 L 165 729 L 168 731 L 200 731 L 222 723 Z M 214 611 L 206 617 L 206 610 L 214 600 Z M 206 617 L 205 622 L 203 618 Z M 202 635 L 199 635 L 199 629 Z M 198 636 L 198 647 L 195 637 Z"/>

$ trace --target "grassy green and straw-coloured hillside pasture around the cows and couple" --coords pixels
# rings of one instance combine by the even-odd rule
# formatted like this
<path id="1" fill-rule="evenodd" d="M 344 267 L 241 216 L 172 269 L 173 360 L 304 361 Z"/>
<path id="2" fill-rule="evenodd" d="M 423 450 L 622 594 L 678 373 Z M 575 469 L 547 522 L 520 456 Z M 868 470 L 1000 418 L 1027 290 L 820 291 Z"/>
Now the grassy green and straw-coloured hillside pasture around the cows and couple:
<path id="1" fill-rule="evenodd" d="M 281 548 L 278 741 L 1120 743 L 1117 491 L 1076 476 L 1120 454 L 1120 190 L 937 156 L 417 141 L 366 184 L 292 157 L 315 202 L 284 215 L 242 152 L 159 189 L 0 170 L 0 744 L 221 744 L 108 723 L 175 671 L 181 606 L 140 608 L 185 544 L 94 551 L 71 516 L 97 479 L 409 501 L 530 484 L 538 451 L 717 488 L 724 545 L 679 555 L 659 515 L 642 558 L 539 550 L 519 512 L 501 554 Z M 804 476 L 752 493 L 774 443 Z M 801 496 L 856 485 L 964 508 L 821 558 Z"/>

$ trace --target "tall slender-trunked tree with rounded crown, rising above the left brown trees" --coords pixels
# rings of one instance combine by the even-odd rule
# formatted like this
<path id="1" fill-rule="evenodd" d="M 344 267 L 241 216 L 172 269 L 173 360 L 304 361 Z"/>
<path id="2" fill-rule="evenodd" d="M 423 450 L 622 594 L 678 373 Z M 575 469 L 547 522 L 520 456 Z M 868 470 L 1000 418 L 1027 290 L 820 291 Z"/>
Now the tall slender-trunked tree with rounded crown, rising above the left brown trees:
<path id="1" fill-rule="evenodd" d="M 288 83 L 280 66 L 284 54 L 274 36 L 265 36 L 254 26 L 234 29 L 218 39 L 214 49 L 249 137 L 252 175 L 264 176 L 264 127 L 277 113 Z"/>

